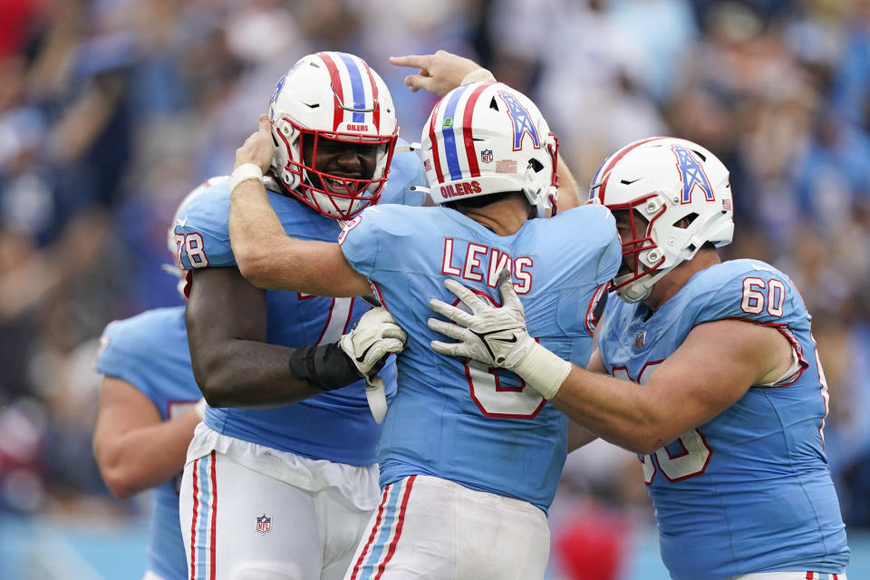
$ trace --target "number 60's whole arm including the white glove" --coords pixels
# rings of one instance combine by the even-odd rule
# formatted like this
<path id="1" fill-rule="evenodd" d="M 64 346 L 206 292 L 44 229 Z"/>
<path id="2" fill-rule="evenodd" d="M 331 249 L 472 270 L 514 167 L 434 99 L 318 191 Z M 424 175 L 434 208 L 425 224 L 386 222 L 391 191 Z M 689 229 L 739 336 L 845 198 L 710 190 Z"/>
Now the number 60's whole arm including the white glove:
<path id="1" fill-rule="evenodd" d="M 435 312 L 458 323 L 430 319 L 432 330 L 459 341 L 433 342 L 433 349 L 516 372 L 585 429 L 637 453 L 651 453 L 712 419 L 791 363 L 791 347 L 775 329 L 720 320 L 692 329 L 644 385 L 621 381 L 572 365 L 531 339 L 508 275 L 499 277 L 500 308 L 455 281 L 445 285 L 473 314 L 430 301 Z"/>

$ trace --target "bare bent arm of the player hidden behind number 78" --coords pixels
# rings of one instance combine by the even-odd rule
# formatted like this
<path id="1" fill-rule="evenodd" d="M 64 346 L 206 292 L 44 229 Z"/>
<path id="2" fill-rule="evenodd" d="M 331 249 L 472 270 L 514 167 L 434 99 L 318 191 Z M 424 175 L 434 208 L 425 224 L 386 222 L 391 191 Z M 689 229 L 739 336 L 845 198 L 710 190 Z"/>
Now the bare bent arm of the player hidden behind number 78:
<path id="1" fill-rule="evenodd" d="M 129 498 L 179 474 L 199 420 L 193 409 L 161 420 L 154 403 L 130 382 L 104 376 L 93 454 L 111 493 Z"/>

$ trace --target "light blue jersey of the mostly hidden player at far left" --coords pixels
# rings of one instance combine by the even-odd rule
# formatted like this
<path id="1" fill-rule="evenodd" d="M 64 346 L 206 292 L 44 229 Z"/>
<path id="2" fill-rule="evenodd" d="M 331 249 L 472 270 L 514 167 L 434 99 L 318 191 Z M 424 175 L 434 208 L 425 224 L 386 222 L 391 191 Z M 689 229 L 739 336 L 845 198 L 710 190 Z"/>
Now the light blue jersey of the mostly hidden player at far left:
<path id="1" fill-rule="evenodd" d="M 131 383 L 170 420 L 189 411 L 202 397 L 190 369 L 184 306 L 150 310 L 115 321 L 102 334 L 97 371 Z M 148 567 L 166 580 L 185 580 L 179 523 L 179 482 L 172 478 L 154 489 Z"/>

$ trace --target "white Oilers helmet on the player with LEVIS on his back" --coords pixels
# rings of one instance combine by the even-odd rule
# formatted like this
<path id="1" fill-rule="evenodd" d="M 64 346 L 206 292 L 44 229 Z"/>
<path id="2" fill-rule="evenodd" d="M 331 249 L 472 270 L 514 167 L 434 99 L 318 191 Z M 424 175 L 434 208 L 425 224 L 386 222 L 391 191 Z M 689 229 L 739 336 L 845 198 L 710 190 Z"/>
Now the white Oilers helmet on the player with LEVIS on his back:
<path id="1" fill-rule="evenodd" d="M 556 201 L 556 136 L 535 103 L 505 84 L 470 82 L 448 92 L 420 142 L 435 203 L 522 191 L 543 217 Z"/>

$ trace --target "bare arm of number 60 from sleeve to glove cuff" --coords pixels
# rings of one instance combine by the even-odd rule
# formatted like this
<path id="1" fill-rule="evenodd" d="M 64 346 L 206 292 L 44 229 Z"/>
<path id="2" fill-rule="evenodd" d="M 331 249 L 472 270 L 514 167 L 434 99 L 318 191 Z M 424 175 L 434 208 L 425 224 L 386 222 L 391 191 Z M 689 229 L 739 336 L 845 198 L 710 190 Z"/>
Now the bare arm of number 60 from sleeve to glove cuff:
<path id="1" fill-rule="evenodd" d="M 788 348 L 772 328 L 699 324 L 644 385 L 574 366 L 550 402 L 605 440 L 651 453 L 727 410 L 774 369 L 784 372 Z"/>

